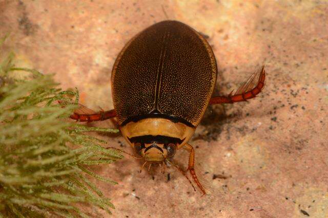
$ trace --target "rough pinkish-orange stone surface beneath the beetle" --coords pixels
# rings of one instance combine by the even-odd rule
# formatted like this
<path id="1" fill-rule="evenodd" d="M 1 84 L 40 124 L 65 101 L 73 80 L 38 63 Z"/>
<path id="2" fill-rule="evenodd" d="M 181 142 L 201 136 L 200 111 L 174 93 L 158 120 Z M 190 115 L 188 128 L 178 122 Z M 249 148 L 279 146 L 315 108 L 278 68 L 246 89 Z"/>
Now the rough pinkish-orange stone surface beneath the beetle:
<path id="1" fill-rule="evenodd" d="M 220 70 L 216 93 L 230 93 L 265 64 L 263 93 L 210 106 L 190 142 L 211 193 L 201 197 L 173 167 L 139 173 L 142 162 L 126 158 L 95 167 L 119 182 L 98 183 L 113 199 L 113 217 L 327 217 L 327 16 L 324 1 L 2 0 L 0 35 L 11 32 L 5 49 L 14 49 L 20 66 L 56 73 L 95 109 L 113 105 L 111 68 L 120 49 L 161 20 L 209 36 Z M 131 151 L 122 137 L 103 137 Z M 185 151 L 175 157 L 184 167 L 187 160 Z"/>

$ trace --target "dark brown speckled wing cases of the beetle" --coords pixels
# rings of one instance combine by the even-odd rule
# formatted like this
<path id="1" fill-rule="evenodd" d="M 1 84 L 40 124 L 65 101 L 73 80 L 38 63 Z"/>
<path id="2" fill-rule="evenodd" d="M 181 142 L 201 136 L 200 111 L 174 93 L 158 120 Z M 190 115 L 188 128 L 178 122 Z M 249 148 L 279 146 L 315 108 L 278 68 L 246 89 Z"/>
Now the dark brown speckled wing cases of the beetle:
<path id="1" fill-rule="evenodd" d="M 157 110 L 197 126 L 216 80 L 216 63 L 205 39 L 178 21 L 142 31 L 113 68 L 113 100 L 119 123 Z"/>

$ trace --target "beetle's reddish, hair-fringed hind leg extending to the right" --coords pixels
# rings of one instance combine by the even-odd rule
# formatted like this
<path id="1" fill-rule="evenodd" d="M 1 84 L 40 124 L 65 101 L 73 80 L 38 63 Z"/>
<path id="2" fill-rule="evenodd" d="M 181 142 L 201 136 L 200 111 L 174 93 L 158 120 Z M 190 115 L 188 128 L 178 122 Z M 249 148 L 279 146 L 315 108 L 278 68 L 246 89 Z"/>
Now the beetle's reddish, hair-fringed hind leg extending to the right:
<path id="1" fill-rule="evenodd" d="M 264 86 L 264 80 L 265 70 L 263 66 L 260 71 L 253 74 L 247 81 L 243 82 L 234 95 L 232 95 L 231 92 L 228 96 L 222 95 L 213 97 L 210 99 L 210 104 L 235 103 L 255 98 L 262 91 Z"/>

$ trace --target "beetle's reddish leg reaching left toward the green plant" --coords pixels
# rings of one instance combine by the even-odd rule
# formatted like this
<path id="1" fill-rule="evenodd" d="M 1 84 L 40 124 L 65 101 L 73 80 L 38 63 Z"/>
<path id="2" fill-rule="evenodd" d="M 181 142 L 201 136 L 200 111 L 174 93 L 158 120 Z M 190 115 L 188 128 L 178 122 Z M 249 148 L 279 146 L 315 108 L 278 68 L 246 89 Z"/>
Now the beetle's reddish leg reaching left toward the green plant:
<path id="1" fill-rule="evenodd" d="M 116 117 L 115 110 L 110 111 L 100 111 L 95 114 L 79 114 L 74 112 L 70 118 L 76 121 L 80 122 L 93 122 L 93 121 L 99 121 L 99 120 L 107 120 L 110 118 Z"/>

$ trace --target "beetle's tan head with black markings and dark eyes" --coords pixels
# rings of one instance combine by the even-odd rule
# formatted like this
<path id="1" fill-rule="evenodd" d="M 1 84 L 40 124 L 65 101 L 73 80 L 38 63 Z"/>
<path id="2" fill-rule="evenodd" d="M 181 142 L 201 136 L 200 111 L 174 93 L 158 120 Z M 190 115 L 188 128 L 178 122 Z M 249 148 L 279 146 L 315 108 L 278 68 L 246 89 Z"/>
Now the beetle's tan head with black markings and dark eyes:
<path id="1" fill-rule="evenodd" d="M 166 136 L 139 136 L 129 138 L 138 155 L 147 162 L 160 163 L 175 155 L 178 145 L 183 141 Z"/>

